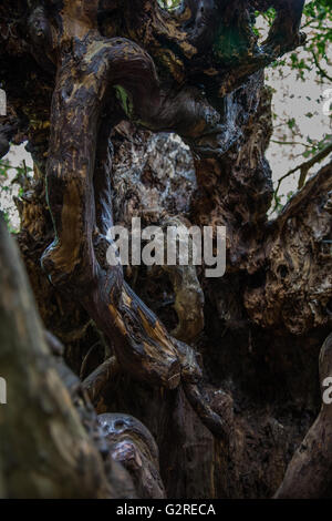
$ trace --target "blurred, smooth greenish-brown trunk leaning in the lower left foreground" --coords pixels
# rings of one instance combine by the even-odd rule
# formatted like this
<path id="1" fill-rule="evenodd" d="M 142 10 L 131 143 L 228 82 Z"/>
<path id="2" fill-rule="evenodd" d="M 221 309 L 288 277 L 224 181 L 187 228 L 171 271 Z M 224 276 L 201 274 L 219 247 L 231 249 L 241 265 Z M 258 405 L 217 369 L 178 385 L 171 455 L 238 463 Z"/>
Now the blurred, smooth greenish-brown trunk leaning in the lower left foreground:
<path id="1" fill-rule="evenodd" d="M 17 247 L 0 223 L 2 498 L 111 498 L 96 448 L 48 351 Z"/>

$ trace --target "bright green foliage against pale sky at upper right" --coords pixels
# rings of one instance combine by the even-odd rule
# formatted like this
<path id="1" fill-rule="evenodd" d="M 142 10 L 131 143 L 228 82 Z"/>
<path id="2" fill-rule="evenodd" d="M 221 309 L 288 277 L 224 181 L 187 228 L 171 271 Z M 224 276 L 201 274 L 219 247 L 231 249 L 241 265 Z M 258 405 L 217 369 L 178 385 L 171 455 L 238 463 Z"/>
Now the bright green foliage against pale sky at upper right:
<path id="1" fill-rule="evenodd" d="M 272 23 L 272 18 L 267 17 L 266 13 L 260 13 L 269 25 Z M 282 59 L 276 61 L 270 70 L 267 70 L 267 79 L 272 80 L 276 74 L 279 79 L 284 80 L 284 83 L 290 84 L 290 78 L 295 78 L 295 81 L 302 82 L 305 90 L 308 85 L 312 85 L 314 81 L 318 85 L 318 91 L 323 93 L 326 89 L 331 88 L 332 71 L 332 2 L 331 0 L 313 0 L 304 6 L 301 31 L 305 32 L 307 41 L 302 48 L 299 48 L 286 54 Z M 313 80 L 314 75 L 314 80 Z M 315 157 L 319 152 L 323 151 L 331 144 L 331 116 L 323 115 L 323 103 L 325 99 L 323 95 L 308 95 L 297 94 L 297 89 L 293 93 L 289 94 L 286 89 L 287 99 L 286 110 L 291 99 L 303 99 L 303 113 L 301 115 L 301 124 L 298 118 L 287 114 L 278 114 L 273 112 L 274 136 L 272 142 L 280 144 L 284 150 L 280 149 L 280 154 L 289 154 L 290 161 L 294 161 L 299 165 L 312 157 Z M 308 104 L 308 101 L 310 102 Z M 301 100 L 297 103 L 301 103 Z M 305 103 L 304 103 L 305 102 Z M 308 106 L 309 105 L 309 106 Z M 305 108 L 304 108 L 305 106 Z M 308 124 L 304 124 L 304 119 L 308 119 Z M 318 122 L 321 122 L 320 135 L 318 132 Z M 329 129 L 330 123 L 330 129 Z M 319 123 L 320 124 L 320 123 Z M 326 129 L 326 130 L 325 130 Z M 325 130 L 325 131 L 324 131 Z M 277 134 L 277 139 L 276 139 Z M 300 145 L 300 151 L 299 151 Z M 302 157 L 302 161 L 301 161 Z M 290 168 L 293 170 L 293 168 Z M 300 170 L 297 173 L 299 177 Z M 279 185 L 278 185 L 279 187 Z M 274 194 L 274 210 L 278 212 L 282 208 L 281 201 L 288 201 L 292 193 L 284 193 L 283 195 Z"/>

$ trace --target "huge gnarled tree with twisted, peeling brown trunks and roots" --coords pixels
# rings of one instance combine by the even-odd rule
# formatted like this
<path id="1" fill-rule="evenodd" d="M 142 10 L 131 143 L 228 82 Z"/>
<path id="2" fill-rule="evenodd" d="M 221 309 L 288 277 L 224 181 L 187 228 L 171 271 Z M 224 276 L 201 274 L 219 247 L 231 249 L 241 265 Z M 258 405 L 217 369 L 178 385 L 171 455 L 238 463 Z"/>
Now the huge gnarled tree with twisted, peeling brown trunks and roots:
<path id="1" fill-rule="evenodd" d="M 17 238 L 42 321 L 2 223 L 0 496 L 332 497 L 332 164 L 267 217 L 263 69 L 303 43 L 303 3 L 1 1 L 0 152 L 34 162 Z M 226 226 L 225 276 L 111 266 L 132 217 Z"/>

